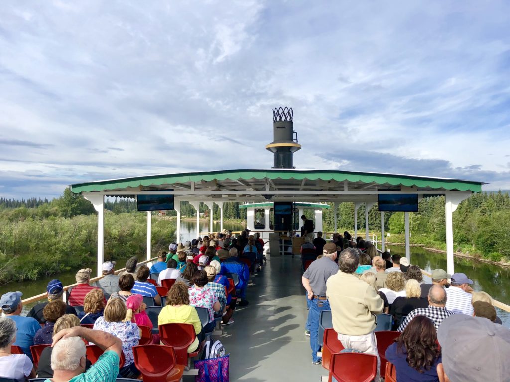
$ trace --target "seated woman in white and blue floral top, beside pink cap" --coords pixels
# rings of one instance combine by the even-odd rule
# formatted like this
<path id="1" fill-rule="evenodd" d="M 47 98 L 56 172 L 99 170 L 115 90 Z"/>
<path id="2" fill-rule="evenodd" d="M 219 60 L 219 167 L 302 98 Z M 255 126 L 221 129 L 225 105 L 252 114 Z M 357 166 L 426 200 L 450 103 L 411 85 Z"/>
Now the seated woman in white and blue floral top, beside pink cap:
<path id="1" fill-rule="evenodd" d="M 130 274 L 123 275 L 122 277 L 124 276 L 131 277 L 133 284 L 135 283 Z M 126 313 L 127 309 L 124 302 L 119 298 L 110 297 L 108 304 L 106 304 L 105 314 L 96 320 L 94 329 L 110 333 L 122 341 L 122 352 L 124 353 L 125 361 L 124 366 L 119 369 L 119 374 L 124 378 L 137 378 L 140 375 L 140 371 L 135 366 L 133 346 L 138 345 L 141 334 L 136 323 L 131 321 L 124 322 Z"/>

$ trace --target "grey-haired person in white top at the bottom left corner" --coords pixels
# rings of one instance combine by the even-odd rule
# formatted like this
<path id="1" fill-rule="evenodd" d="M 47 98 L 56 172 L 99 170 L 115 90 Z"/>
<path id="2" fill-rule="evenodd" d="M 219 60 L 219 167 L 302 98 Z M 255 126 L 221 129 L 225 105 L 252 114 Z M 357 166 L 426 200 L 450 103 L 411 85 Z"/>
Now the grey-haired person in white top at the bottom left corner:
<path id="1" fill-rule="evenodd" d="M 19 380 L 35 378 L 34 365 L 30 358 L 25 354 L 11 353 L 12 344 L 16 341 L 16 332 L 16 322 L 7 317 L 0 317 L 0 377 Z"/>

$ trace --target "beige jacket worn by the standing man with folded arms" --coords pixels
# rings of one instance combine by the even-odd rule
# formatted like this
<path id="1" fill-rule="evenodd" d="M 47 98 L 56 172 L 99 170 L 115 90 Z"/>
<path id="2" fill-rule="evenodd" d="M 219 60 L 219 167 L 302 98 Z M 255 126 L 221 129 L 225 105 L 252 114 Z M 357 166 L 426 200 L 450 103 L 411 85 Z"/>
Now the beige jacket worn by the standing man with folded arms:
<path id="1" fill-rule="evenodd" d="M 339 271 L 326 282 L 326 296 L 339 334 L 362 336 L 375 329 L 373 314 L 382 313 L 384 302 L 374 288 L 353 274 Z"/>

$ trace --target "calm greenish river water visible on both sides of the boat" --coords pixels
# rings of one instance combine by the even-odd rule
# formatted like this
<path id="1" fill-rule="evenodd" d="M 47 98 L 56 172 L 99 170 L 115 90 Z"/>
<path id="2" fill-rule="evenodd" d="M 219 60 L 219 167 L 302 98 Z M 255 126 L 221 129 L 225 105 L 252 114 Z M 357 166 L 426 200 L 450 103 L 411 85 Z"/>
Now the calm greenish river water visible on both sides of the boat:
<path id="1" fill-rule="evenodd" d="M 239 223 L 223 223 L 224 229 L 239 231 L 244 228 Z M 209 231 L 209 221 L 200 221 L 200 232 Z M 215 232 L 220 230 L 219 223 L 213 224 Z M 181 222 L 181 241 L 192 240 L 198 235 L 196 233 L 196 221 L 182 221 Z M 405 254 L 405 248 L 401 245 L 390 245 L 392 253 L 399 255 Z M 145 258 L 145 254 L 141 256 Z M 117 259 L 118 267 L 123 267 L 124 261 L 127 259 Z M 411 248 L 411 263 L 419 265 L 422 269 L 430 271 L 435 268 L 446 269 L 446 255 L 427 251 L 423 248 Z M 89 264 L 93 269 L 93 275 L 96 274 L 95 264 Z M 496 265 L 487 264 L 483 262 L 472 261 L 463 258 L 455 258 L 455 271 L 464 272 L 470 279 L 473 280 L 473 289 L 483 290 L 489 293 L 493 298 L 501 303 L 510 305 L 510 268 L 502 268 Z M 74 283 L 75 270 L 69 272 L 62 272 L 61 274 L 54 275 L 52 278 L 60 279 L 64 285 Z M 46 291 L 46 284 L 48 278 L 36 281 L 28 281 L 23 283 L 11 283 L 0 287 L 0 294 L 9 291 L 19 290 L 23 293 L 24 298 L 28 298 Z M 510 327 L 510 313 L 498 310 L 498 316 L 501 318 L 505 326 Z"/>

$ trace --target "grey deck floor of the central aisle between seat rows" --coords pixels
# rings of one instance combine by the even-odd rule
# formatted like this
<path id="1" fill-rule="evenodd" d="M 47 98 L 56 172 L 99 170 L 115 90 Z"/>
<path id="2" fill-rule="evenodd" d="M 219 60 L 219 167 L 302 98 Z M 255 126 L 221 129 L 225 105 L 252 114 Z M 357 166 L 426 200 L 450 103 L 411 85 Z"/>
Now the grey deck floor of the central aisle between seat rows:
<path id="1" fill-rule="evenodd" d="M 268 256 L 249 305 L 237 308 L 235 323 L 223 326 L 221 341 L 230 352 L 232 381 L 320 381 L 327 371 L 312 364 L 310 337 L 304 335 L 307 307 L 299 257 Z"/>

